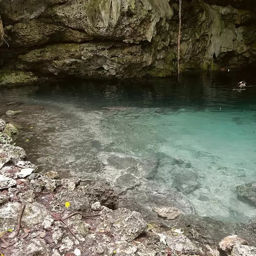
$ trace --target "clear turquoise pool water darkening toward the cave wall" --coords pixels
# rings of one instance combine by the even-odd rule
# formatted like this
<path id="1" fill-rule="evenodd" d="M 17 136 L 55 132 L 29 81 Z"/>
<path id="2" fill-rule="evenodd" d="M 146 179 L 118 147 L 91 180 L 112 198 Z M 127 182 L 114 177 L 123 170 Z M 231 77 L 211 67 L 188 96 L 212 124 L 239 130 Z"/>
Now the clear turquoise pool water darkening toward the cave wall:
<path id="1" fill-rule="evenodd" d="M 256 181 L 256 86 L 233 91 L 244 77 L 256 84 L 241 71 L 183 75 L 179 82 L 67 81 L 0 94 L 3 105 L 44 106 L 44 112 L 24 117 L 34 137 L 20 141 L 43 171 L 95 180 L 99 152 L 156 156 L 152 190 L 174 188 L 176 175 L 190 175 L 198 186 L 184 196 L 196 214 L 247 222 L 256 208 L 237 198 L 236 186 Z"/>

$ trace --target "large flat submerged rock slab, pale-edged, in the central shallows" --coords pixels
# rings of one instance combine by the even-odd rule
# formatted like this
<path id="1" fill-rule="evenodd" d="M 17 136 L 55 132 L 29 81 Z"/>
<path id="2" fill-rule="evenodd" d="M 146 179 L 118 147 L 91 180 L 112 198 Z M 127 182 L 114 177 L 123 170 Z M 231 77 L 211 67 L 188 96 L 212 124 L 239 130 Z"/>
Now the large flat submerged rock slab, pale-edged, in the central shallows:
<path id="1" fill-rule="evenodd" d="M 100 177 L 113 181 L 122 174 L 131 173 L 136 178 L 153 178 L 158 159 L 154 156 L 136 157 L 120 153 L 101 152 L 98 159 L 103 165 Z"/>

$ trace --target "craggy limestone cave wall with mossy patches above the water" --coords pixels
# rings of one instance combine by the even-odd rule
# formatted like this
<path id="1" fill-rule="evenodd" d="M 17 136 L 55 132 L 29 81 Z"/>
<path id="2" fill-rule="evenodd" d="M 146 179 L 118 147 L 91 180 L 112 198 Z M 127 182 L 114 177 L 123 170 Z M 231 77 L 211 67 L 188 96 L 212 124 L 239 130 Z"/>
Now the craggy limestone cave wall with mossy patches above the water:
<path id="1" fill-rule="evenodd" d="M 9 44 L 0 38 L 0 84 L 11 76 L 170 76 L 178 13 L 178 0 L 0 0 Z M 253 1 L 183 0 L 181 72 L 255 62 L 255 32 Z"/>

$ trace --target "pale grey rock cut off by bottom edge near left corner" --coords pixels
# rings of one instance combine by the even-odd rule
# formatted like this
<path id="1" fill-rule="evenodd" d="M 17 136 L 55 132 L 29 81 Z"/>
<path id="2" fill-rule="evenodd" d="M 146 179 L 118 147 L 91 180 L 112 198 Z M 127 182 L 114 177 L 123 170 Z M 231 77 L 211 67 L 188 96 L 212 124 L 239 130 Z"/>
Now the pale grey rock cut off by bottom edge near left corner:
<path id="1" fill-rule="evenodd" d="M 50 256 L 50 248 L 43 239 L 30 239 L 20 250 L 14 252 L 11 256 Z"/>

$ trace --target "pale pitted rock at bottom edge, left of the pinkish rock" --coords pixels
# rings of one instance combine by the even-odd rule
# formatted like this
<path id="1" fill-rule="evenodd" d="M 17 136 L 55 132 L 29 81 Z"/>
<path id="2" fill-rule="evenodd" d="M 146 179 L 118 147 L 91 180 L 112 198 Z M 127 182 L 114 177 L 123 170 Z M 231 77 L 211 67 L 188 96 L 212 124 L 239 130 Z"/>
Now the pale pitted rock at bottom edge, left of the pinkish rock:
<path id="1" fill-rule="evenodd" d="M 165 237 L 169 248 L 176 253 L 185 255 L 196 254 L 197 247 L 188 239 L 188 237 L 172 231 L 166 232 Z"/>

